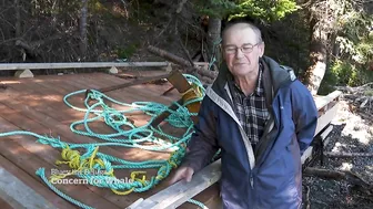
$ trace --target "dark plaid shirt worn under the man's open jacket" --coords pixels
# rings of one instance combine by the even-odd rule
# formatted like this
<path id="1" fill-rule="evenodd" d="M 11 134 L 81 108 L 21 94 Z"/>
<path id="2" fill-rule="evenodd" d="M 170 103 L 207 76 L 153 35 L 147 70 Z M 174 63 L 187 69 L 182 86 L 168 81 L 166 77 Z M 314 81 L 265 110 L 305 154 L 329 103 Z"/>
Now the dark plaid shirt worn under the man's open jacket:
<path id="1" fill-rule="evenodd" d="M 253 147 L 263 135 L 265 122 L 269 117 L 266 108 L 264 87 L 262 80 L 263 66 L 260 65 L 256 87 L 253 93 L 245 96 L 240 86 L 231 80 L 233 86 L 232 97 L 235 107 L 235 114 L 246 133 Z"/>

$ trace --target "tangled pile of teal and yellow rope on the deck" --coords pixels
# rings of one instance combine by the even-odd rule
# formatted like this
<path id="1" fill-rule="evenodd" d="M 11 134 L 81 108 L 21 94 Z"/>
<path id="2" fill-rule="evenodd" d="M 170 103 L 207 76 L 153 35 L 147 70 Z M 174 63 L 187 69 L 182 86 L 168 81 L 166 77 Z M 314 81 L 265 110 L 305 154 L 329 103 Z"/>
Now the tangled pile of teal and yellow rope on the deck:
<path id="1" fill-rule="evenodd" d="M 71 124 L 71 130 L 79 135 L 99 138 L 104 140 L 103 143 L 67 143 L 62 142 L 59 137 L 47 137 L 22 130 L 0 133 L 0 137 L 11 135 L 30 135 L 37 137 L 38 143 L 50 145 L 56 148 L 61 148 L 61 157 L 63 160 L 57 160 L 56 164 L 65 164 L 71 168 L 72 171 L 67 174 L 52 175 L 50 176 L 50 179 L 48 179 L 46 177 L 44 168 L 39 168 L 37 170 L 37 175 L 43 179 L 51 190 L 81 208 L 91 209 L 92 207 L 64 195 L 53 186 L 53 182 L 74 175 L 80 179 L 84 179 L 84 182 L 100 188 L 109 188 L 117 195 L 143 192 L 157 186 L 160 181 L 168 177 L 173 168 L 180 165 L 183 156 L 185 155 L 186 144 L 193 134 L 193 122 L 191 116 L 196 115 L 196 113 L 190 113 L 186 108 L 186 105 L 194 102 L 201 102 L 204 96 L 204 87 L 196 77 L 189 74 L 184 74 L 184 76 L 194 86 L 194 90 L 198 92 L 199 96 L 188 101 L 183 105 L 175 103 L 179 105 L 177 111 L 171 111 L 168 108 L 168 106 L 154 102 L 134 102 L 131 104 L 121 103 L 94 90 L 90 91 L 84 100 L 85 108 L 79 108 L 70 104 L 68 101 L 71 96 L 84 94 L 85 90 L 65 95 L 63 101 L 69 107 L 85 113 L 83 119 Z M 129 107 L 129 109 L 115 109 L 105 104 L 104 101 L 110 101 L 113 104 Z M 160 126 L 151 126 L 151 123 L 155 116 L 160 115 L 164 111 L 171 112 L 171 115 L 165 119 L 170 125 L 186 129 L 181 137 L 167 134 Z M 135 127 L 125 116 L 125 114 L 133 112 L 143 112 L 144 114 L 150 115 L 151 119 L 148 122 L 148 124 Z M 90 128 L 90 124 L 97 121 L 103 121 L 114 130 L 114 133 L 101 134 L 93 132 Z M 79 125 L 83 125 L 84 130 L 78 129 L 77 126 Z M 161 136 L 162 139 L 157 136 Z M 171 157 L 167 160 L 129 161 L 111 155 L 107 155 L 104 153 L 100 153 L 99 147 L 102 146 L 141 148 L 153 151 L 171 149 L 172 154 Z M 85 153 L 81 155 L 78 150 L 75 150 L 78 148 L 84 148 Z M 158 173 L 155 176 L 145 177 L 144 171 L 141 171 L 141 169 L 145 168 L 158 169 Z M 140 169 L 140 171 L 132 171 L 131 180 L 124 182 L 115 177 L 115 169 Z M 92 170 L 97 171 L 93 174 Z M 140 178 L 140 176 L 142 176 L 142 178 Z M 189 200 L 189 202 L 195 203 L 201 208 L 205 208 L 199 201 Z"/>

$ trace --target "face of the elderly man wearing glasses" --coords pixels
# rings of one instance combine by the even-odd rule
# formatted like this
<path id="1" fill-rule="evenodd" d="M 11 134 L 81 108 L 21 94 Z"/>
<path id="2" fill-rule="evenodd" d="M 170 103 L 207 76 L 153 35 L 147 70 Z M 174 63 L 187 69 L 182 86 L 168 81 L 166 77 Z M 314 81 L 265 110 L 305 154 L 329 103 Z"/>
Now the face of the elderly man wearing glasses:
<path id="1" fill-rule="evenodd" d="M 234 76 L 258 72 L 259 59 L 264 53 L 264 43 L 259 43 L 255 32 L 244 24 L 230 28 L 224 33 L 223 56 Z"/>

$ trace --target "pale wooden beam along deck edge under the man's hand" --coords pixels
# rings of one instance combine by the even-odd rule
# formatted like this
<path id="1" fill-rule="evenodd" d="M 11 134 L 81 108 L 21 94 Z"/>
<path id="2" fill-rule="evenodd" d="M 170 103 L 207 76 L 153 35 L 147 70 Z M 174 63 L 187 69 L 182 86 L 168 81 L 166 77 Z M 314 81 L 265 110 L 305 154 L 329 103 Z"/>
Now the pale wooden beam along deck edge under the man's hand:
<path id="1" fill-rule="evenodd" d="M 216 160 L 193 175 L 190 182 L 184 180 L 157 192 L 145 200 L 138 200 L 128 209 L 173 209 L 193 198 L 221 177 L 221 160 Z"/>

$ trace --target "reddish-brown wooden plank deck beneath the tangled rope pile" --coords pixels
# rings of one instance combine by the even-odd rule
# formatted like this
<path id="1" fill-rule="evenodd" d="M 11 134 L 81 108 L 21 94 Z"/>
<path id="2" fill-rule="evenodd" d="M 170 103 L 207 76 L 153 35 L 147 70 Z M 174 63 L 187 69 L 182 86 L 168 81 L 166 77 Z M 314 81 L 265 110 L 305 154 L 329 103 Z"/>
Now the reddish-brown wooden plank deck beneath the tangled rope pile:
<path id="1" fill-rule="evenodd" d="M 143 72 L 145 75 L 155 75 L 164 72 Z M 134 73 L 139 75 L 139 73 Z M 40 135 L 60 136 L 63 142 L 71 143 L 94 143 L 101 140 L 97 138 L 75 135 L 70 130 L 70 124 L 82 119 L 83 112 L 78 112 L 63 103 L 63 96 L 79 90 L 108 87 L 115 84 L 129 82 L 105 73 L 71 74 L 71 75 L 44 75 L 34 79 L 13 79 L 0 77 L 0 133 L 11 130 L 29 130 Z M 171 104 L 179 100 L 177 91 L 172 91 L 168 96 L 161 96 L 171 85 L 142 84 L 137 86 L 117 90 L 108 93 L 109 96 L 125 103 L 139 101 L 152 101 L 163 104 Z M 80 97 L 81 96 L 81 97 Z M 74 96 L 71 103 L 82 106 L 82 96 Z M 145 116 L 133 115 L 135 124 L 147 122 Z M 110 133 L 111 129 L 101 123 L 93 124 L 93 128 L 99 133 Z M 171 132 L 171 130 L 170 130 Z M 178 134 L 179 130 L 172 130 Z M 52 190 L 36 175 L 40 167 L 46 168 L 47 177 L 50 176 L 52 168 L 58 168 L 54 163 L 60 159 L 60 149 L 49 145 L 41 145 L 32 136 L 14 135 L 0 138 L 0 168 L 17 177 L 20 182 L 29 187 L 30 192 L 40 195 L 44 203 L 30 206 L 27 208 L 78 208 L 64 200 Z M 165 159 L 167 153 L 147 151 L 137 148 L 100 147 L 100 151 L 129 160 Z M 58 168 L 62 169 L 62 168 Z M 115 173 L 118 177 L 130 178 L 131 170 L 120 170 Z M 147 170 L 148 174 L 155 174 L 155 170 Z M 8 179 L 8 178 L 6 178 Z M 0 180 L 1 181 L 1 180 Z M 0 208 L 19 208 L 16 200 L 9 195 L 1 194 L 8 189 L 12 190 L 11 185 L 0 188 Z M 14 186 L 13 186 L 14 187 Z M 132 192 L 127 196 L 114 195 L 110 189 L 101 189 L 89 185 L 59 185 L 62 192 L 71 198 L 79 200 L 88 206 L 98 209 L 127 208 L 139 198 L 148 198 L 157 191 L 164 189 L 164 182 L 155 188 L 142 192 Z M 10 191 L 9 191 L 10 192 Z M 16 191 L 14 191 L 16 192 Z M 19 196 L 27 196 L 19 192 Z M 209 205 L 218 195 L 216 186 L 208 189 L 196 197 L 198 200 Z M 21 197 L 28 201 L 28 197 Z M 196 208 L 194 205 L 184 203 L 180 208 Z"/>

